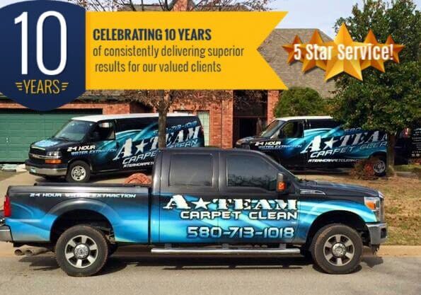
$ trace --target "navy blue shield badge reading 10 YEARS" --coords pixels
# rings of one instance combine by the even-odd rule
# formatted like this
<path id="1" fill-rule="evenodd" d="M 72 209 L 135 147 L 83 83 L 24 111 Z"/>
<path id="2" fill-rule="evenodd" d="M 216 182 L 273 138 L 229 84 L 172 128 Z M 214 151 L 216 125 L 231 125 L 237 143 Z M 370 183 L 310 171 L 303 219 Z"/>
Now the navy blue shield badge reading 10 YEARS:
<path id="1" fill-rule="evenodd" d="M 85 91 L 85 10 L 62 1 L 0 9 L 0 92 L 33 110 L 53 110 Z"/>

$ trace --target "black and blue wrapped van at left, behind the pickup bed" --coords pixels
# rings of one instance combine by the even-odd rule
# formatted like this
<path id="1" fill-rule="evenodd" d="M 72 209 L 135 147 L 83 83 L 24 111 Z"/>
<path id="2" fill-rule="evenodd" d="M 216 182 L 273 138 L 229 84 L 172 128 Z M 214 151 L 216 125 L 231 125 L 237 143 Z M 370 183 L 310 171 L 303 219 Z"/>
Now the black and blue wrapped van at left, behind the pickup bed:
<path id="1" fill-rule="evenodd" d="M 168 114 L 167 147 L 204 146 L 197 116 Z M 54 137 L 31 144 L 26 169 L 86 183 L 91 173 L 151 168 L 158 151 L 158 114 L 74 117 Z"/>

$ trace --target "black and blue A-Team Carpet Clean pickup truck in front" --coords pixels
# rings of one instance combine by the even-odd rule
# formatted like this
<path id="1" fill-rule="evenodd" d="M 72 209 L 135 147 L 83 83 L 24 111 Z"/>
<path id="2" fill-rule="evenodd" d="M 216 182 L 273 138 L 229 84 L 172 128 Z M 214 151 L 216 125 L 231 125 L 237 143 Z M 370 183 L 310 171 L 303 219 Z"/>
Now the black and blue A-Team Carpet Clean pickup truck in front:
<path id="1" fill-rule="evenodd" d="M 71 276 L 99 272 L 121 245 L 160 254 L 303 254 L 352 272 L 386 241 L 383 195 L 300 180 L 259 151 L 164 149 L 151 186 L 8 187 L 0 241 L 55 253 Z"/>

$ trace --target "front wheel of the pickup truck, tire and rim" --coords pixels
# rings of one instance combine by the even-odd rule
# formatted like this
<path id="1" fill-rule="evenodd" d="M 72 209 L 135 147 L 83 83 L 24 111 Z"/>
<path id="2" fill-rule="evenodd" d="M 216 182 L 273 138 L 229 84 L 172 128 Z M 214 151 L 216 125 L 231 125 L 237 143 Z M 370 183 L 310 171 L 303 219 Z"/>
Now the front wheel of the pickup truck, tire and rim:
<path id="1" fill-rule="evenodd" d="M 311 243 L 313 261 L 328 274 L 348 274 L 361 262 L 362 239 L 343 224 L 329 224 L 318 230 Z"/>

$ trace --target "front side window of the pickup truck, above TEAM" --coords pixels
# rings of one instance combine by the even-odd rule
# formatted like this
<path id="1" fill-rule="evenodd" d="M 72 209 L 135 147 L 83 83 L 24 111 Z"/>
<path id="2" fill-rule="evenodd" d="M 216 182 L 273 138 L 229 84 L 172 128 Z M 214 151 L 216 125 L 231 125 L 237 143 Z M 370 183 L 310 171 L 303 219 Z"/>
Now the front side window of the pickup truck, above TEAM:
<path id="1" fill-rule="evenodd" d="M 274 191 L 277 173 L 277 169 L 263 158 L 243 155 L 229 155 L 226 158 L 228 187 L 260 187 Z"/>

